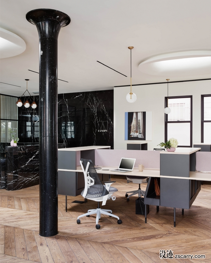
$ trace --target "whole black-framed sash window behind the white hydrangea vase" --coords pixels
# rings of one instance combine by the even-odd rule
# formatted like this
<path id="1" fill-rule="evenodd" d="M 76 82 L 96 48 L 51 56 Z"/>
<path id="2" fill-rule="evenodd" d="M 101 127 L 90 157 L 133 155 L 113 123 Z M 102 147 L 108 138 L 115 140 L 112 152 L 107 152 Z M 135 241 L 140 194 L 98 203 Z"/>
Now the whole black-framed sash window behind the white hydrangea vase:
<path id="1" fill-rule="evenodd" d="M 170 114 L 165 114 L 165 142 L 173 137 L 178 147 L 192 147 L 192 100 L 192 96 L 165 97 L 165 107 L 171 109 Z"/>

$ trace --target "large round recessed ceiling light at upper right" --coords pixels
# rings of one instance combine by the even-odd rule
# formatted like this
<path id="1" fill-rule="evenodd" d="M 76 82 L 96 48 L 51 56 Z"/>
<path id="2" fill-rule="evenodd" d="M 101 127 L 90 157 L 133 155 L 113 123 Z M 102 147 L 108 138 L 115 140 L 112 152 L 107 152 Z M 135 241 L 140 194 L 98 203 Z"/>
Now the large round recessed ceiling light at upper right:
<path id="1" fill-rule="evenodd" d="M 139 64 L 138 69 L 158 76 L 184 76 L 209 74 L 211 51 L 184 51 L 159 55 Z"/>

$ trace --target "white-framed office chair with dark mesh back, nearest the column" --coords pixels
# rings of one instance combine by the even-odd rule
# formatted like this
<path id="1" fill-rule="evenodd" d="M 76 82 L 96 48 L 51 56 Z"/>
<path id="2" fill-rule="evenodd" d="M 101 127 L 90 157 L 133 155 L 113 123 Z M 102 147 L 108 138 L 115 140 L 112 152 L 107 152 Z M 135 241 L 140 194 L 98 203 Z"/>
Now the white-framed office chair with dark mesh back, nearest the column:
<path id="1" fill-rule="evenodd" d="M 77 218 L 77 224 L 80 224 L 80 217 L 89 217 L 90 215 L 97 214 L 96 215 L 96 228 L 99 229 L 100 225 L 98 224 L 98 221 L 100 219 L 100 214 L 109 215 L 109 217 L 116 217 L 117 223 L 121 224 L 122 220 L 119 219 L 117 215 L 112 214 L 112 210 L 109 209 L 101 209 L 100 208 L 100 201 L 103 201 L 102 205 L 105 205 L 106 201 L 112 197 L 112 200 L 114 201 L 116 199 L 115 196 L 112 196 L 114 192 L 118 191 L 115 187 L 112 187 L 111 184 L 113 184 L 116 181 L 107 181 L 104 182 L 105 185 L 102 184 L 102 182 L 99 179 L 99 176 L 94 168 L 94 165 L 91 160 L 82 159 L 80 161 L 81 168 L 84 173 L 84 180 L 85 180 L 85 188 L 81 192 L 81 195 L 84 198 L 94 200 L 98 202 L 97 209 L 90 209 L 86 214 L 79 215 Z"/>

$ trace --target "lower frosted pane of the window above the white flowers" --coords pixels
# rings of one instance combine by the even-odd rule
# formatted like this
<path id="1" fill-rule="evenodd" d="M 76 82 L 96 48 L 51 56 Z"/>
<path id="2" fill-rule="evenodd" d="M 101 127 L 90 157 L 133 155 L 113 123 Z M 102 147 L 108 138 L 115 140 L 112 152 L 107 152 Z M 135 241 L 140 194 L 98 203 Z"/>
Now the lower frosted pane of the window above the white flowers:
<path id="1" fill-rule="evenodd" d="M 175 138 L 178 146 L 190 145 L 190 123 L 168 123 L 167 140 Z"/>

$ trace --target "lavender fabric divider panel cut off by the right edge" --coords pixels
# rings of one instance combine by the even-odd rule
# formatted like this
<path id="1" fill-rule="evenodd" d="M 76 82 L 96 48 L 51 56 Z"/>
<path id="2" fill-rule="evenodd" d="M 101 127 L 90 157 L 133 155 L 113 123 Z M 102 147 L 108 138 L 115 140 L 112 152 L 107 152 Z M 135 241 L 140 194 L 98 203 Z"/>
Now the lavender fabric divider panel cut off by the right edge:
<path id="1" fill-rule="evenodd" d="M 211 172 L 211 152 L 196 152 L 196 171 Z"/>

